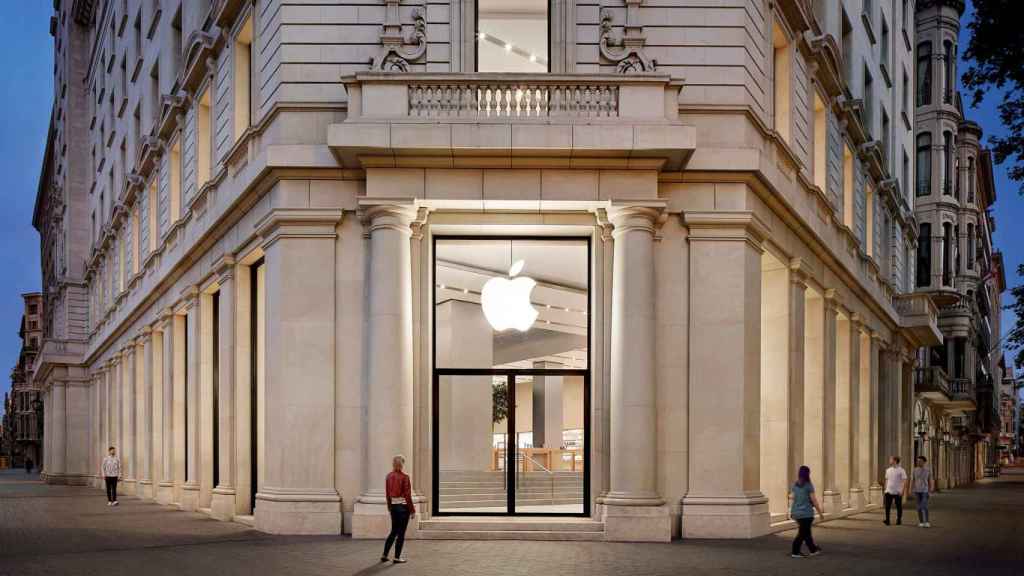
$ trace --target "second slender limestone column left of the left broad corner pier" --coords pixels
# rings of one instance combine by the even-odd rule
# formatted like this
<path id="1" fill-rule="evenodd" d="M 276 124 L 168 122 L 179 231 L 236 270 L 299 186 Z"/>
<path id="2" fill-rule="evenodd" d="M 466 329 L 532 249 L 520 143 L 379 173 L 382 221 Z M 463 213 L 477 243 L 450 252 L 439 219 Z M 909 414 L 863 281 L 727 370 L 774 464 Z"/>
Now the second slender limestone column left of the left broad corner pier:
<path id="1" fill-rule="evenodd" d="M 184 298 L 184 412 L 185 412 L 185 482 L 181 486 L 181 508 L 199 508 L 200 492 L 200 303 L 199 290 L 190 286 L 182 293 Z"/>

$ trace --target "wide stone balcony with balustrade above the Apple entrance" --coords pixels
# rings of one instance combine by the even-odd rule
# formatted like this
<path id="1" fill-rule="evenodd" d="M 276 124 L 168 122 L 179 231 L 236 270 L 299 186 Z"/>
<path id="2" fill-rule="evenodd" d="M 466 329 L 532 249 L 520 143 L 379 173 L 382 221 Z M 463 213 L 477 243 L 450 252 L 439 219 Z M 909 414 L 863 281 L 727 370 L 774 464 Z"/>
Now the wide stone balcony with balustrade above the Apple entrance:
<path id="1" fill-rule="evenodd" d="M 360 73 L 328 143 L 351 168 L 681 169 L 696 130 L 660 75 Z M 538 163 L 537 159 L 544 162 Z"/>

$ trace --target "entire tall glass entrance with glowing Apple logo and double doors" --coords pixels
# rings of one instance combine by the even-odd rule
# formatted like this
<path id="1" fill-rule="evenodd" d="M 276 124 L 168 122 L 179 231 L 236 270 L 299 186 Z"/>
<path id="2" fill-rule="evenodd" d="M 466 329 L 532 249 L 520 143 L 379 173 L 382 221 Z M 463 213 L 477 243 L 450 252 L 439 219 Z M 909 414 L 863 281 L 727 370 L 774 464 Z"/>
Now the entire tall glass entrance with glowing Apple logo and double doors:
<path id="1" fill-rule="evenodd" d="M 434 240 L 433 512 L 584 516 L 590 242 Z"/>

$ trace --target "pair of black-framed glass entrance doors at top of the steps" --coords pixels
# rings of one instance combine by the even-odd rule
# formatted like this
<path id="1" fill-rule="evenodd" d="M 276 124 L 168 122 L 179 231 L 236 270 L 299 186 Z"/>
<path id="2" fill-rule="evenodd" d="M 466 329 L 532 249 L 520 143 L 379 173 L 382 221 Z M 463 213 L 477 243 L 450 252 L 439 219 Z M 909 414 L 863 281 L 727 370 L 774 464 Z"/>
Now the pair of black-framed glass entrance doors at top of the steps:
<path id="1" fill-rule="evenodd" d="M 438 372 L 435 515 L 589 513 L 586 373 Z"/>

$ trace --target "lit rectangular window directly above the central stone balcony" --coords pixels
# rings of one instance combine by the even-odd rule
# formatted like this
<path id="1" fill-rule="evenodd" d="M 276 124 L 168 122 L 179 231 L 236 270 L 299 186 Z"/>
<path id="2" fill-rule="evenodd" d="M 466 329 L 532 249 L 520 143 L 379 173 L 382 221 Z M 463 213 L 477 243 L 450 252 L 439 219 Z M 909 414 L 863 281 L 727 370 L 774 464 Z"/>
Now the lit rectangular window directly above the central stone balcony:
<path id="1" fill-rule="evenodd" d="M 476 71 L 548 72 L 548 0 L 477 0 Z"/>

